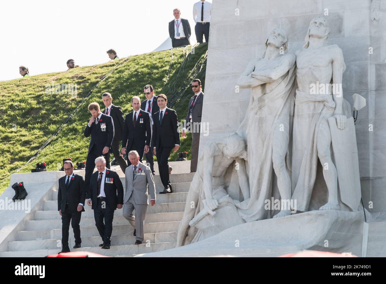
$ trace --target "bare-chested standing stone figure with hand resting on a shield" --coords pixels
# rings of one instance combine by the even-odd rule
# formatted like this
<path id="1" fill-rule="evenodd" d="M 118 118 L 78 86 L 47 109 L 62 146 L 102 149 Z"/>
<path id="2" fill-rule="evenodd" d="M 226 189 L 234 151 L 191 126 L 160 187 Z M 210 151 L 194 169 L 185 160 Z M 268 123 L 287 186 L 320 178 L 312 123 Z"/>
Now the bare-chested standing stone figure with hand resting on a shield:
<path id="1" fill-rule="evenodd" d="M 337 128 L 340 131 L 346 127 L 347 117 L 344 115 L 346 107 L 340 88 L 345 64 L 342 50 L 336 44 L 327 44 L 329 33 L 330 27 L 325 18 L 313 19 L 303 48 L 296 52 L 298 90 L 293 123 L 292 199 L 297 200 L 298 211 L 309 210 L 318 158 L 323 167 L 323 177 L 328 189 L 328 203 L 319 209 L 340 209 L 337 169 L 331 159 L 328 118 L 336 118 Z M 330 83 L 338 88 L 332 90 L 327 88 L 322 94 L 310 91 L 311 86 L 315 84 Z"/>

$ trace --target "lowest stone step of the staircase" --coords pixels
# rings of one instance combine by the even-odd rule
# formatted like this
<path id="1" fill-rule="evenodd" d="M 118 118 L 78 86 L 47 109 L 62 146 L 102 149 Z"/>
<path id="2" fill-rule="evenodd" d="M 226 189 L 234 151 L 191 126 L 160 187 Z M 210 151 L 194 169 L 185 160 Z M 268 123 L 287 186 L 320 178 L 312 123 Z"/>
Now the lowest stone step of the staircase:
<path id="1" fill-rule="evenodd" d="M 141 245 L 112 245 L 109 250 L 101 249 L 100 247 L 81 247 L 72 249 L 71 251 L 93 252 L 96 254 L 114 257 L 117 255 L 136 255 L 150 252 L 158 252 L 161 250 L 173 249 L 176 247 L 175 242 L 166 243 L 142 243 Z M 27 250 L 27 251 L 8 251 L 0 252 L 0 257 L 45 257 L 51 254 L 57 254 L 61 249 L 44 249 L 44 250 Z"/>

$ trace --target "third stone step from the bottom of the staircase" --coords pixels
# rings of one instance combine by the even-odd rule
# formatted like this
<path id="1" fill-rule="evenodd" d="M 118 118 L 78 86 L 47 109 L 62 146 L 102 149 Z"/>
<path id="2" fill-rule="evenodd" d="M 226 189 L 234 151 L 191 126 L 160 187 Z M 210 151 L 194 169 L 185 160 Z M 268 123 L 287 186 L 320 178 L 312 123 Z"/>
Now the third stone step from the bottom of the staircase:
<path id="1" fill-rule="evenodd" d="M 145 223 L 144 233 L 145 234 L 154 234 L 154 233 L 166 233 L 166 232 L 177 232 L 179 226 L 179 221 L 174 222 L 161 222 L 161 223 Z M 71 226 L 70 226 L 71 227 Z M 127 233 L 132 233 L 134 228 L 127 223 L 125 225 L 115 225 L 113 223 L 113 232 L 112 236 L 125 235 Z M 73 231 L 69 229 L 69 235 L 72 236 Z M 95 223 L 92 227 L 81 227 L 80 229 L 81 237 L 99 237 L 97 227 Z M 48 240 L 48 239 L 58 239 L 62 238 L 62 229 L 47 229 L 47 230 L 34 230 L 34 231 L 19 231 L 17 232 L 17 240 Z"/>

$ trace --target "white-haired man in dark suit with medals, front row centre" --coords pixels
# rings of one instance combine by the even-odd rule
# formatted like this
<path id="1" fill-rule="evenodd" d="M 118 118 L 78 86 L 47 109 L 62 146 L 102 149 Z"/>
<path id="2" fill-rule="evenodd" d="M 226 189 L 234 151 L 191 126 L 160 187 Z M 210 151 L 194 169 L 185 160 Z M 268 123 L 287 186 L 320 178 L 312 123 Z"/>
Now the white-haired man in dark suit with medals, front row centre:
<path id="1" fill-rule="evenodd" d="M 118 174 L 106 168 L 104 157 L 97 157 L 95 164 L 98 171 L 91 175 L 87 205 L 94 210 L 95 225 L 103 240 L 99 246 L 110 249 L 114 211 L 123 206 L 123 186 Z"/>

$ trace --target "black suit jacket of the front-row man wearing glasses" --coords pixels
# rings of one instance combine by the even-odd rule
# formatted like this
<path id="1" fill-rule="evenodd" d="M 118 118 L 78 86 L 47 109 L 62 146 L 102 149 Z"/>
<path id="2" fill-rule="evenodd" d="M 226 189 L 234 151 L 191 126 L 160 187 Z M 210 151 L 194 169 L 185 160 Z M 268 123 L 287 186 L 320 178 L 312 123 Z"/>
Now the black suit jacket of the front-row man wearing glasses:
<path id="1" fill-rule="evenodd" d="M 78 212 L 79 203 L 83 204 L 82 212 L 85 211 L 86 189 L 83 177 L 73 173 L 68 188 L 66 188 L 66 179 L 67 175 L 59 179 L 58 211 L 62 210 L 63 213 L 67 203 L 69 212 Z"/>

